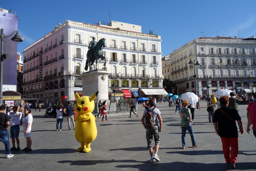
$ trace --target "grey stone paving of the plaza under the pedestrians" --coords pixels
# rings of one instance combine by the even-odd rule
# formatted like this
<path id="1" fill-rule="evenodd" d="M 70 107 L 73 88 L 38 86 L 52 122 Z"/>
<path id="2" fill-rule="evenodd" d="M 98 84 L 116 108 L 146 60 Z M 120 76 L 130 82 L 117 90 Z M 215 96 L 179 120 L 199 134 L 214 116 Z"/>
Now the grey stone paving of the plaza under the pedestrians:
<path id="1" fill-rule="evenodd" d="M 193 129 L 198 147 L 192 148 L 189 133 L 186 134 L 187 149 L 181 149 L 180 115 L 168 103 L 157 103 L 163 119 L 160 133 L 160 162 L 150 163 L 147 151 L 146 130 L 141 124 L 143 108 L 138 105 L 138 115 L 129 113 L 108 114 L 108 121 L 96 118 L 98 136 L 91 143 L 89 153 L 77 152 L 80 143 L 74 130 L 68 130 L 67 118 L 63 131 L 56 131 L 56 118 L 44 118 L 32 109 L 32 151 L 12 152 L 6 158 L 4 144 L 0 143 L 0 170 L 230 170 L 225 165 L 220 137 L 208 121 L 206 102 L 195 110 Z M 246 129 L 247 105 L 239 105 L 239 113 Z M 71 123 L 72 125 L 72 123 Z M 21 149 L 26 139 L 20 132 Z M 11 141 L 11 140 L 10 140 Z M 12 143 L 10 143 L 12 147 Z M 235 170 L 256 170 L 256 139 L 253 133 L 239 133 L 239 154 Z"/>

